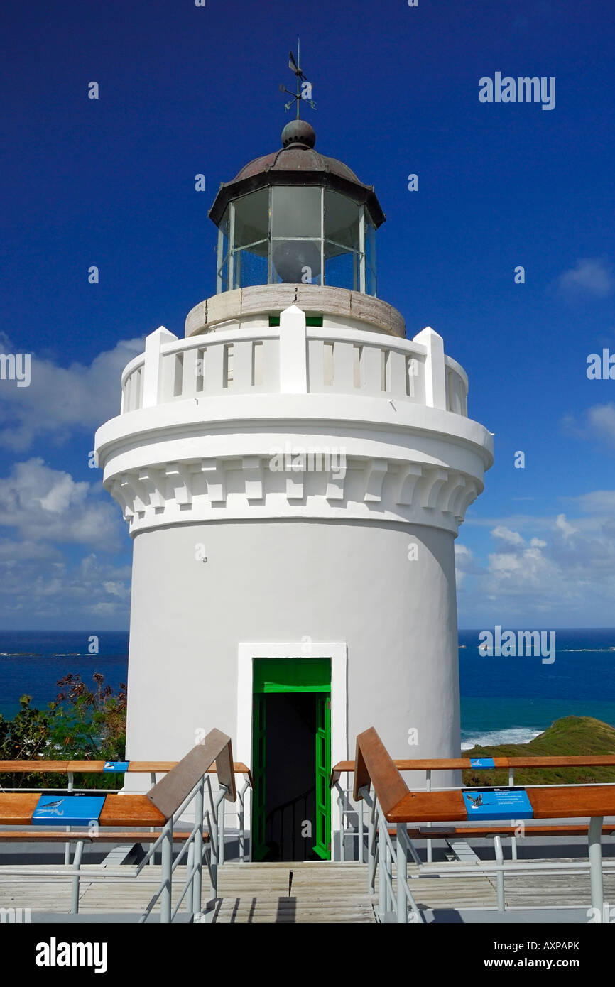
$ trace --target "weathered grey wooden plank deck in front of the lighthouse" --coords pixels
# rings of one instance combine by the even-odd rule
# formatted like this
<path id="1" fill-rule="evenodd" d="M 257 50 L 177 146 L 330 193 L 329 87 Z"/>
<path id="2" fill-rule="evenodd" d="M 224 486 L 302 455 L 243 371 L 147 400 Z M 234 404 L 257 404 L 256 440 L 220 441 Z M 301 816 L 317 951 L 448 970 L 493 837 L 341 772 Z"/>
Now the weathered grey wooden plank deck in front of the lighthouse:
<path id="1" fill-rule="evenodd" d="M 66 881 L 39 877 L 34 873 L 37 870 L 35 867 L 28 870 L 33 872 L 32 877 L 17 878 L 3 873 L 0 868 L 0 907 L 67 913 L 70 869 L 67 869 Z M 289 894 L 290 871 L 292 884 Z M 416 877 L 416 867 L 411 866 L 409 873 Z M 177 901 L 184 875 L 185 869 L 178 868 L 174 901 Z M 155 882 L 146 883 L 143 877 L 155 878 Z M 208 884 L 206 874 L 203 877 L 204 907 Z M 159 879 L 160 868 L 157 866 L 145 868 L 136 880 L 110 879 L 105 883 L 93 883 L 84 879 L 79 910 L 81 913 L 138 913 L 152 897 Z M 367 893 L 366 884 L 366 867 L 361 864 L 225 864 L 219 871 L 219 897 L 214 903 L 214 921 L 275 925 L 373 923 L 375 899 Z M 412 880 L 412 890 L 422 908 L 496 907 L 495 877 L 480 873 L 476 876 L 423 876 Z M 615 900 L 615 873 L 604 876 L 604 897 L 606 901 Z M 506 907 L 513 908 L 588 908 L 589 875 L 506 875 L 505 899 Z"/>

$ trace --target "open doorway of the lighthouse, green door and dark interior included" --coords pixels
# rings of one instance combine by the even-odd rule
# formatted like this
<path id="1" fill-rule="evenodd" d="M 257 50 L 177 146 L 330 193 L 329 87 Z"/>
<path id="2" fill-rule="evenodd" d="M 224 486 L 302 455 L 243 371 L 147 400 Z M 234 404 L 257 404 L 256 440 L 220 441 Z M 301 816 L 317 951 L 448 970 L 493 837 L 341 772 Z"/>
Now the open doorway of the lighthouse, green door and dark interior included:
<path id="1" fill-rule="evenodd" d="M 331 658 L 257 658 L 253 682 L 253 860 L 329 860 Z"/>

